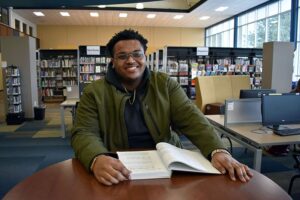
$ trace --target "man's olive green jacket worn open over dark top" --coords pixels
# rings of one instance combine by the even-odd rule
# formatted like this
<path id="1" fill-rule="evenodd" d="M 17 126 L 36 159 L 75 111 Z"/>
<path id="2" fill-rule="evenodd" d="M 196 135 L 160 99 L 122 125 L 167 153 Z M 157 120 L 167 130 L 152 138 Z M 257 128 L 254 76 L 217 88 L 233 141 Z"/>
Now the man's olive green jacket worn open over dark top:
<path id="1" fill-rule="evenodd" d="M 141 97 L 145 123 L 155 141 L 180 146 L 170 130 L 179 130 L 204 156 L 224 148 L 214 128 L 192 103 L 177 81 L 159 72 L 150 72 L 146 92 Z M 72 129 L 72 147 L 76 157 L 89 170 L 101 153 L 126 150 L 128 137 L 124 119 L 129 95 L 104 79 L 89 84 L 80 98 Z"/>

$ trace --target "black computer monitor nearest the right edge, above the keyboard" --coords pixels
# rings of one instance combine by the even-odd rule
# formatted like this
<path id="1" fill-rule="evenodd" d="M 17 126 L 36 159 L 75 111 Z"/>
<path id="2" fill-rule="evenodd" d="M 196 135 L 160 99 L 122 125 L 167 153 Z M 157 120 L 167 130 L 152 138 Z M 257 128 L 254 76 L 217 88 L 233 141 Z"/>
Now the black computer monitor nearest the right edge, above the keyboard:
<path id="1" fill-rule="evenodd" d="M 300 124 L 300 95 L 297 93 L 263 95 L 262 125 L 279 129 L 280 125 Z"/>

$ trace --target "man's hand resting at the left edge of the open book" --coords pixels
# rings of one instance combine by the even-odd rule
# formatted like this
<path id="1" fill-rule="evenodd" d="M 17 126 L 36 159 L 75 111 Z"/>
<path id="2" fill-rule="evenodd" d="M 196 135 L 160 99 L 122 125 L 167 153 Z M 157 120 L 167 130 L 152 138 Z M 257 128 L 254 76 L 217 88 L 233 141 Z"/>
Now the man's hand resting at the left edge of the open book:
<path id="1" fill-rule="evenodd" d="M 119 161 L 110 156 L 101 155 L 96 158 L 92 171 L 96 179 L 104 185 L 117 184 L 128 180 L 130 171 Z"/>

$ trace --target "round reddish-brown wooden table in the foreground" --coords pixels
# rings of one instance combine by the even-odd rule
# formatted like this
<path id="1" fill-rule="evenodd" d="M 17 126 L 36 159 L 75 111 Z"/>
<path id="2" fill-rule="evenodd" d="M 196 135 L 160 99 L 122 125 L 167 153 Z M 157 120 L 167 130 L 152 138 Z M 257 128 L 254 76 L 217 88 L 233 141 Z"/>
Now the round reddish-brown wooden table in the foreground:
<path id="1" fill-rule="evenodd" d="M 272 180 L 252 171 L 254 176 L 248 183 L 231 181 L 225 175 L 175 173 L 170 179 L 124 181 L 104 186 L 77 159 L 69 159 L 28 177 L 12 188 L 4 200 L 291 199 Z"/>

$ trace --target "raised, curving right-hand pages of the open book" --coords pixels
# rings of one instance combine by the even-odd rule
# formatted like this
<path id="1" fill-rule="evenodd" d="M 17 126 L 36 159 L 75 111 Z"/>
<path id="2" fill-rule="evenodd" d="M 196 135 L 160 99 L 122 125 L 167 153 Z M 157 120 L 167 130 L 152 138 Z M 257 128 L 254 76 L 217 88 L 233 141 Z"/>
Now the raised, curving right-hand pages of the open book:
<path id="1" fill-rule="evenodd" d="M 180 149 L 164 142 L 158 143 L 156 148 L 170 170 L 220 174 L 200 152 Z"/>

